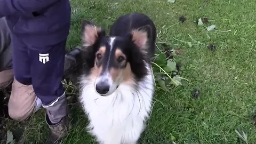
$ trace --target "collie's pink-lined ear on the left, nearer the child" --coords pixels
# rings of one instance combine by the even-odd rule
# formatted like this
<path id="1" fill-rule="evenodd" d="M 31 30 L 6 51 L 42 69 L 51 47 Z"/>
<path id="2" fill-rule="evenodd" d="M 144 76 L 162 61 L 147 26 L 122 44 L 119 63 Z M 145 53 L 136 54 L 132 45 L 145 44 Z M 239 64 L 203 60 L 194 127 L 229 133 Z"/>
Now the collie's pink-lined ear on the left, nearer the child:
<path id="1" fill-rule="evenodd" d="M 95 44 L 98 38 L 105 36 L 105 30 L 95 25 L 93 22 L 82 21 L 82 40 L 83 46 L 88 47 Z"/>

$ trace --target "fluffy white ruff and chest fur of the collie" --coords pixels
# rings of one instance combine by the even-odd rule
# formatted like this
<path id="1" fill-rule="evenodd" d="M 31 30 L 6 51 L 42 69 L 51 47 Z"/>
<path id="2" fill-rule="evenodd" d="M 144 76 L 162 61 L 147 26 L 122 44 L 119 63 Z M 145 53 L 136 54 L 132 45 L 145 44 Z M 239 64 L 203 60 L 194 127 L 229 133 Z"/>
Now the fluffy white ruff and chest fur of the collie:
<path id="1" fill-rule="evenodd" d="M 94 90 L 94 79 L 82 77 L 81 103 L 88 115 L 89 132 L 102 144 L 135 144 L 145 128 L 154 94 L 153 75 L 137 85 L 121 83 L 117 90 L 102 97 Z"/>

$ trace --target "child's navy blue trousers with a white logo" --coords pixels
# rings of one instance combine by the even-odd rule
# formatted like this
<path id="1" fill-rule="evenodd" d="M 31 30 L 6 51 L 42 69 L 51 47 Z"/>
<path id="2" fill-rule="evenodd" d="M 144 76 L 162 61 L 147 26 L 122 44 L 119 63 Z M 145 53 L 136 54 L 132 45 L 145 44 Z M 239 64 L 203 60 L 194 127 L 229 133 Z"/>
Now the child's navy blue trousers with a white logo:
<path id="1" fill-rule="evenodd" d="M 40 39 L 42 41 L 42 39 Z M 49 105 L 64 94 L 61 84 L 65 61 L 66 39 L 54 45 L 34 46 L 12 36 L 14 77 L 25 85 L 33 85 L 43 105 Z"/>

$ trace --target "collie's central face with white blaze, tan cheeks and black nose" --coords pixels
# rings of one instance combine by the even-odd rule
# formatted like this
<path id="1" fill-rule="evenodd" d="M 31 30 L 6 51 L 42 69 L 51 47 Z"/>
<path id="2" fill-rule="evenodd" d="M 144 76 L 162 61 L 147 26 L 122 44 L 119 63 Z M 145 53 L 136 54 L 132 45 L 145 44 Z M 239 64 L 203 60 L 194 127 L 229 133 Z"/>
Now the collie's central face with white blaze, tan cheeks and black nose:
<path id="1" fill-rule="evenodd" d="M 95 67 L 101 71 L 95 81 L 95 90 L 101 95 L 109 95 L 124 81 L 124 71 L 129 70 L 125 54 L 114 48 L 115 37 L 107 38 L 107 46 L 96 52 Z M 108 48 L 107 48 L 108 47 Z"/>

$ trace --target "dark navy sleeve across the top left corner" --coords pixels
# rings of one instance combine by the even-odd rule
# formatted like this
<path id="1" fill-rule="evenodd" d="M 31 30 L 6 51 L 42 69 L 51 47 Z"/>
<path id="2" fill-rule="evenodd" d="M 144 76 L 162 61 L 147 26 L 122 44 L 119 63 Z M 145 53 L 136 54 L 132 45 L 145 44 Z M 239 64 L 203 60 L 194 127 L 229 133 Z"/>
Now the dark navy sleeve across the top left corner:
<path id="1" fill-rule="evenodd" d="M 61 0 L 0 0 L 0 18 L 20 13 L 30 15 Z"/>

